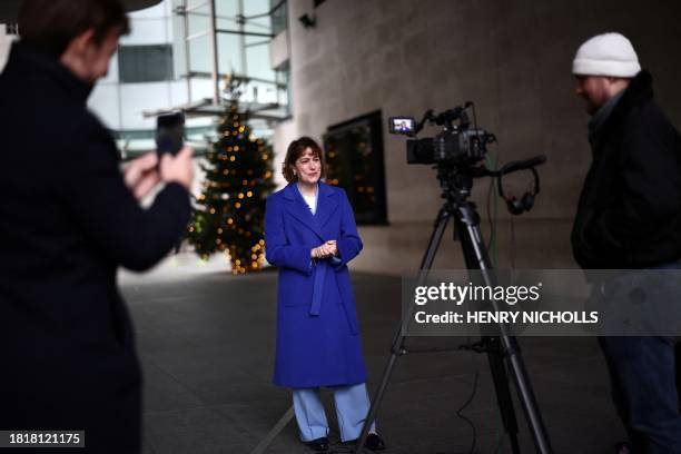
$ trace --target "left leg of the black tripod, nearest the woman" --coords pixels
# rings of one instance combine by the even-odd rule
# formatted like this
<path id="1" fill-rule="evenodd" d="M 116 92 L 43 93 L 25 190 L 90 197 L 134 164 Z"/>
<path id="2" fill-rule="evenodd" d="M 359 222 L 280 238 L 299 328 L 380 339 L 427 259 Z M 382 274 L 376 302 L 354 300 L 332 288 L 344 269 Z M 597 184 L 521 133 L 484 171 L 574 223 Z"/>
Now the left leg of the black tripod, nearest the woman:
<path id="1" fill-rule="evenodd" d="M 437 248 L 440 247 L 440 241 L 442 240 L 442 236 L 447 227 L 447 223 L 452 213 L 447 208 L 447 204 L 443 205 L 437 214 L 437 218 L 435 219 L 435 227 L 433 228 L 433 233 L 431 234 L 431 239 L 428 240 L 428 246 L 423 256 L 423 260 L 421 261 L 421 267 L 418 268 L 418 285 L 425 283 L 425 279 L 428 276 L 428 270 L 433 265 L 433 260 L 435 259 L 435 254 L 437 253 Z M 401 356 L 404 352 L 405 347 L 405 323 L 408 323 L 412 318 L 413 305 L 409 305 L 409 313 L 403 314 L 402 320 L 397 326 L 397 330 L 395 332 L 395 337 L 393 339 L 393 346 L 391 348 L 391 356 L 383 372 L 383 376 L 381 377 L 381 384 L 378 385 L 378 389 L 372 398 L 372 405 L 369 407 L 368 415 L 364 422 L 364 427 L 362 428 L 362 434 L 359 435 L 359 440 L 357 441 L 357 445 L 355 446 L 355 454 L 364 451 L 364 444 L 366 443 L 366 437 L 368 436 L 368 430 L 372 426 L 372 423 L 376 421 L 376 415 L 378 413 L 378 408 L 381 407 L 381 403 L 383 401 L 383 396 L 385 391 L 387 389 L 387 385 L 391 381 L 391 376 L 393 375 L 393 369 L 395 367 L 395 363 L 397 357 Z"/>

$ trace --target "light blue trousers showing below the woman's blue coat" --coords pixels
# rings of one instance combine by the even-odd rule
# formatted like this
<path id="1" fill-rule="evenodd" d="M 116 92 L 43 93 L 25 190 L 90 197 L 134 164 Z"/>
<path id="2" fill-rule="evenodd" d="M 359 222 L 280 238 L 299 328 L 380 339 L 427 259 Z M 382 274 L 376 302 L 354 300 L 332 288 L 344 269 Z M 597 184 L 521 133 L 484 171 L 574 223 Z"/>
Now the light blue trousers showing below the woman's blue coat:
<path id="1" fill-rule="evenodd" d="M 366 384 L 337 386 L 330 389 L 336 404 L 340 441 L 348 442 L 359 438 L 371 405 Z M 293 394 L 300 440 L 310 442 L 328 436 L 328 422 L 319 398 L 319 388 L 294 389 Z M 376 433 L 376 424 L 372 424 L 369 432 Z"/>

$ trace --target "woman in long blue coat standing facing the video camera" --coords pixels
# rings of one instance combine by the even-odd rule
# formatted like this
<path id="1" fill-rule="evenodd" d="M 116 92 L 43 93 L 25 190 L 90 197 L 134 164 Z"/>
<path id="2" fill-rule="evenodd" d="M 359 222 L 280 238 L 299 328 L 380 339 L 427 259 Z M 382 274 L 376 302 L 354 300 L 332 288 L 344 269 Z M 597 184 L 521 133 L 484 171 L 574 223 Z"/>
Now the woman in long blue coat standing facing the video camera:
<path id="1" fill-rule="evenodd" d="M 324 155 L 294 140 L 284 160 L 289 182 L 267 199 L 267 260 L 279 268 L 274 382 L 293 388 L 300 438 L 328 448 L 319 387 L 334 392 L 342 442 L 359 437 L 369 408 L 366 367 L 347 263 L 362 250 L 345 191 L 320 181 Z M 381 451 L 372 426 L 366 446 Z"/>

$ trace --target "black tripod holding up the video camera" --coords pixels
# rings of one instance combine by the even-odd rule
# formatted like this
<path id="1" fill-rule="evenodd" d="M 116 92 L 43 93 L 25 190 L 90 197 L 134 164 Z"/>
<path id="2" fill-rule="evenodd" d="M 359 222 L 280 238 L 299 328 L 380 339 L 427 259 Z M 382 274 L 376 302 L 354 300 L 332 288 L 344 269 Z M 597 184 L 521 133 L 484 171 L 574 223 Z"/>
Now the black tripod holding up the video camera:
<path id="1" fill-rule="evenodd" d="M 511 166 L 505 166 L 502 171 L 491 171 L 484 167 L 467 168 L 465 171 L 462 171 L 455 166 L 438 165 L 437 179 L 440 180 L 440 185 L 443 189 L 442 197 L 445 199 L 445 201 L 437 214 L 433 234 L 431 235 L 428 246 L 421 263 L 416 285 L 421 286 L 425 283 L 447 223 L 450 218 L 454 218 L 454 231 L 461 241 L 466 267 L 468 269 L 478 269 L 484 280 L 483 284 L 494 287 L 496 285 L 496 276 L 492 270 L 492 263 L 480 230 L 480 215 L 475 210 L 475 204 L 468 200 L 471 188 L 473 187 L 473 178 L 484 176 L 501 177 L 503 174 L 509 174 L 515 170 L 533 169 L 535 165 L 541 162 L 543 162 L 543 159 L 537 161 L 536 158 L 524 162 L 514 162 Z M 499 310 L 499 306 L 495 300 L 492 300 L 490 304 L 492 305 L 493 310 Z M 378 391 L 372 401 L 372 406 L 367 415 L 364 430 L 362 431 L 362 435 L 359 436 L 359 441 L 356 445 L 355 453 L 363 452 L 363 446 L 368 436 L 368 427 L 371 426 L 371 423 L 376 420 L 376 414 L 378 413 L 378 408 L 389 383 L 397 357 L 406 353 L 406 329 L 403 328 L 406 327 L 405 324 L 408 324 L 408 320 L 411 320 L 413 315 L 414 305 L 411 305 L 409 307 L 409 312 L 403 317 L 399 326 L 397 327 L 397 332 L 395 333 L 395 338 L 391 348 L 391 356 L 385 367 L 385 372 L 383 373 Z M 515 337 L 509 334 L 507 326 L 500 324 L 494 336 L 482 336 L 480 343 L 470 346 L 470 348 L 478 353 L 487 354 L 492 377 L 494 379 L 496 398 L 504 424 L 504 431 L 509 435 L 513 453 L 520 453 L 520 445 L 517 442 L 517 421 L 515 417 L 515 411 L 513 408 L 513 399 L 511 397 L 509 376 L 506 374 L 504 359 L 506 361 L 509 372 L 513 377 L 517 396 L 527 420 L 527 425 L 532 432 L 536 452 L 542 454 L 552 453 L 549 437 L 546 436 L 546 430 L 544 427 L 544 423 L 530 384 L 530 378 L 527 377 L 527 373 L 525 372 L 525 366 L 521 357 L 517 340 Z"/>

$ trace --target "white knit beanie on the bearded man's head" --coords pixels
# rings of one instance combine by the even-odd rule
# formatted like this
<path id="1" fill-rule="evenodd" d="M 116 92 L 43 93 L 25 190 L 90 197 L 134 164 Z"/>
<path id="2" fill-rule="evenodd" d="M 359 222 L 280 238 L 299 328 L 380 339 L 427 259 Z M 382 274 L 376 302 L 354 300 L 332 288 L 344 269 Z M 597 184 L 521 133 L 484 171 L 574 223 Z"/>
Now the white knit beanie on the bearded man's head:
<path id="1" fill-rule="evenodd" d="M 634 77 L 641 70 L 631 41 L 620 33 L 603 33 L 584 42 L 574 56 L 576 76 Z"/>

